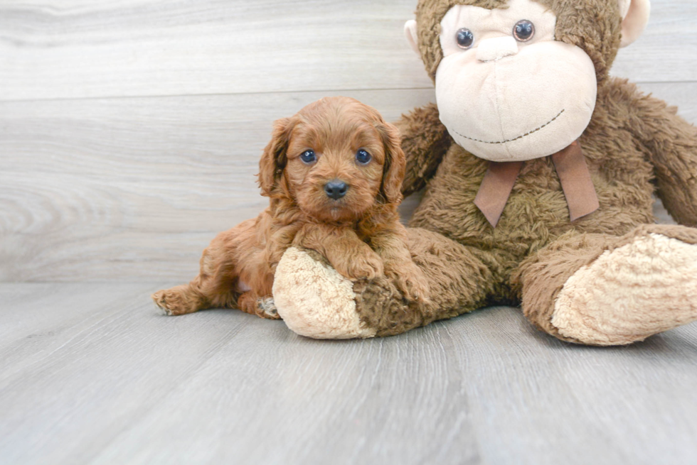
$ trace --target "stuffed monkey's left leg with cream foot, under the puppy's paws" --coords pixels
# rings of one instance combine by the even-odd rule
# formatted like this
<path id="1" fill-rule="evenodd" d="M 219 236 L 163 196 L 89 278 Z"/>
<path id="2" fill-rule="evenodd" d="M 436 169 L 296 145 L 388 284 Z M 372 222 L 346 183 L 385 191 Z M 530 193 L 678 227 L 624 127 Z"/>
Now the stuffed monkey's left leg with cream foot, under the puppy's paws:
<path id="1" fill-rule="evenodd" d="M 407 229 L 407 246 L 429 299 L 405 296 L 400 279 L 389 275 L 352 282 L 316 251 L 289 248 L 274 277 L 278 313 L 303 336 L 351 339 L 401 334 L 485 302 L 491 275 L 470 248 L 420 228 Z"/>

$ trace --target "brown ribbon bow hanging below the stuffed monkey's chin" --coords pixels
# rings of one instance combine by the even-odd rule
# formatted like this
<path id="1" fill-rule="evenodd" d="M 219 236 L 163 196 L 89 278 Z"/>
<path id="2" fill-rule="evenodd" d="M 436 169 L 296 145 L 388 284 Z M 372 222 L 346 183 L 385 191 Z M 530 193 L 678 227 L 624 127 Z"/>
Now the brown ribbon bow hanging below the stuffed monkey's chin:
<path id="1" fill-rule="evenodd" d="M 595 212 L 600 203 L 578 141 L 551 156 L 569 206 L 571 221 Z M 474 204 L 484 213 L 491 226 L 496 227 L 499 223 L 521 168 L 522 161 L 489 162 Z"/>

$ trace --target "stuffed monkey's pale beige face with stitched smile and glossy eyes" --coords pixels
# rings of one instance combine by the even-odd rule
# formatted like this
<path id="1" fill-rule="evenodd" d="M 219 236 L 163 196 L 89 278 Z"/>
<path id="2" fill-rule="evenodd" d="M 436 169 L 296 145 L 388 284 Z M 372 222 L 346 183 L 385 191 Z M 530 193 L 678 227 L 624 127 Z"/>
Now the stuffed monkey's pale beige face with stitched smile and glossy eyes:
<path id="1" fill-rule="evenodd" d="M 580 48 L 554 40 L 555 25 L 555 14 L 532 0 L 448 11 L 436 98 L 460 146 L 486 160 L 531 160 L 585 131 L 595 109 L 595 67 Z"/>

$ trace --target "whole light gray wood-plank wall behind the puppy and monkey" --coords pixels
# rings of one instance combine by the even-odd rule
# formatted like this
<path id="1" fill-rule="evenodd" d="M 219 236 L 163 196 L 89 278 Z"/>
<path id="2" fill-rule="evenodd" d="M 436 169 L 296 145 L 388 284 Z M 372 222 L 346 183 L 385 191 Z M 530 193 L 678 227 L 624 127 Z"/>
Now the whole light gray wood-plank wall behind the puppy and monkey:
<path id="1" fill-rule="evenodd" d="M 324 95 L 388 119 L 432 100 L 415 4 L 3 1 L 0 280 L 188 280 L 264 207 L 273 120 Z M 652 4 L 612 73 L 697 121 L 697 2 Z"/>

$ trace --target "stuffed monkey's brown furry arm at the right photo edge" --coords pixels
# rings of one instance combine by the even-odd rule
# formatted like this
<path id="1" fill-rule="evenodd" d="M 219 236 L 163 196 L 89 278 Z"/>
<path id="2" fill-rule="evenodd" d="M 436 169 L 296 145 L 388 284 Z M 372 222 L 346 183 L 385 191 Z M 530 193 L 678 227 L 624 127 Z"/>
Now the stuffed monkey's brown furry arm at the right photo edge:
<path id="1" fill-rule="evenodd" d="M 697 128 L 653 97 L 634 101 L 635 134 L 654 165 L 658 196 L 679 224 L 697 226 Z"/>

